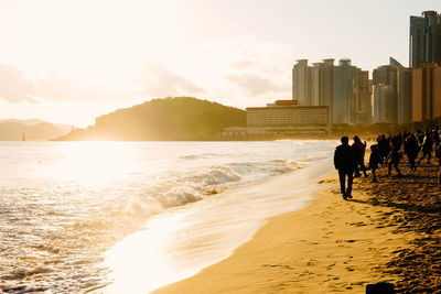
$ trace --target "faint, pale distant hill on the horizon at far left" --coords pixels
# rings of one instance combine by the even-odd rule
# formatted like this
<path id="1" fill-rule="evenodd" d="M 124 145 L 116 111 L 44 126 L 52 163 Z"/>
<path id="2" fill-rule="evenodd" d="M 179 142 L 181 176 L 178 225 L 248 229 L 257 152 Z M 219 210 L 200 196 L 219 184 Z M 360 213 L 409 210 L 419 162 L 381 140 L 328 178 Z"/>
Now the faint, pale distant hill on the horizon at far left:
<path id="1" fill-rule="evenodd" d="M 19 122 L 20 120 L 0 121 L 0 141 L 21 141 L 24 133 L 28 141 L 47 141 L 50 139 L 66 134 L 71 128 L 58 127 L 49 122 L 35 120 L 33 123 Z"/>

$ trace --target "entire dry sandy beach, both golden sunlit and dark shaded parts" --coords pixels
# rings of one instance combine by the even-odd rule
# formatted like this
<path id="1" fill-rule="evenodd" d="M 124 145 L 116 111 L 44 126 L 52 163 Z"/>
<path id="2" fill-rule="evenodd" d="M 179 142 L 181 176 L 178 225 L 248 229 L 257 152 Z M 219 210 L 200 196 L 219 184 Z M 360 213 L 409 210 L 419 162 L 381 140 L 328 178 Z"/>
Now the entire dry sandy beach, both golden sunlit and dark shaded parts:
<path id="1" fill-rule="evenodd" d="M 154 293 L 364 293 L 379 281 L 400 292 L 440 291 L 438 167 L 400 166 L 405 178 L 385 167 L 377 184 L 356 178 L 352 200 L 332 173 L 310 206 L 269 219 L 228 259 Z"/>

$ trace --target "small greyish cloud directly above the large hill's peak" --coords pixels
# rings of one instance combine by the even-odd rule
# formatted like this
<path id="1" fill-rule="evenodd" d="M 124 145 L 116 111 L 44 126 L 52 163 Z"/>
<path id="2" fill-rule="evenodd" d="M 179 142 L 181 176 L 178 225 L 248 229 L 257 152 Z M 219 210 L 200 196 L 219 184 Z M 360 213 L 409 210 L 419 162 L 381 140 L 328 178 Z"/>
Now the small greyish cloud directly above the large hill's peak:
<path id="1" fill-rule="evenodd" d="M 172 72 L 164 64 L 151 64 L 143 69 L 139 77 L 142 85 L 142 95 L 148 97 L 164 96 L 197 96 L 206 94 L 206 90 L 195 83 Z"/>

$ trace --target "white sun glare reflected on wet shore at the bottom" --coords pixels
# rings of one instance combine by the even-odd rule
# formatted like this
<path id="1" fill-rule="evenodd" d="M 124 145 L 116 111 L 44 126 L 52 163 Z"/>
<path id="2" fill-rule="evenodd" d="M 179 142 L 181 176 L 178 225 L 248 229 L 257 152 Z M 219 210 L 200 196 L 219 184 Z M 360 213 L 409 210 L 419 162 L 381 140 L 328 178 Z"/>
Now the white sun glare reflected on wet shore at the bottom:
<path id="1" fill-rule="evenodd" d="M 176 238 L 185 238 L 180 236 L 185 226 L 182 215 L 159 216 L 147 226 L 147 230 L 129 236 L 107 253 L 104 265 L 111 269 L 114 283 L 104 293 L 147 293 L 190 275 L 171 257 L 176 252 L 169 252 Z"/>

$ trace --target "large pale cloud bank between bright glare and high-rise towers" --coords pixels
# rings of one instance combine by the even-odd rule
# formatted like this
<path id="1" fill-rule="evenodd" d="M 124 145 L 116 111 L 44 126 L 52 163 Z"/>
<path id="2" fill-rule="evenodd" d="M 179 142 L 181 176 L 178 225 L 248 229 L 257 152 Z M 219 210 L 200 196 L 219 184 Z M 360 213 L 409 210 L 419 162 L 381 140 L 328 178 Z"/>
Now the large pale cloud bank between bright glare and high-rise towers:
<path id="1" fill-rule="evenodd" d="M 234 35 L 182 47 L 166 65 L 203 85 L 203 98 L 245 108 L 291 98 L 293 56 L 289 44 Z"/>

